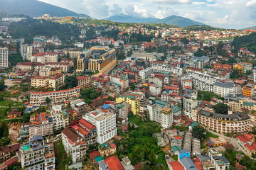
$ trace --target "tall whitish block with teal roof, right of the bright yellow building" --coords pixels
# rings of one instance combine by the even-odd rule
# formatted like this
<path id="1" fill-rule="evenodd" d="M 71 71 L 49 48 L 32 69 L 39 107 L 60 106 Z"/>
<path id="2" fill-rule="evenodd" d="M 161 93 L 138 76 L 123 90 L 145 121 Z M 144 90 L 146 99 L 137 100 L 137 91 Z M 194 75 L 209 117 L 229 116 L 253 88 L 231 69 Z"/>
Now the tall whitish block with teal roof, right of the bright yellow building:
<path id="1" fill-rule="evenodd" d="M 165 101 L 155 100 L 153 105 L 147 106 L 149 118 L 159 123 L 163 128 L 170 128 L 173 124 L 173 113 L 169 108 L 169 103 Z"/>

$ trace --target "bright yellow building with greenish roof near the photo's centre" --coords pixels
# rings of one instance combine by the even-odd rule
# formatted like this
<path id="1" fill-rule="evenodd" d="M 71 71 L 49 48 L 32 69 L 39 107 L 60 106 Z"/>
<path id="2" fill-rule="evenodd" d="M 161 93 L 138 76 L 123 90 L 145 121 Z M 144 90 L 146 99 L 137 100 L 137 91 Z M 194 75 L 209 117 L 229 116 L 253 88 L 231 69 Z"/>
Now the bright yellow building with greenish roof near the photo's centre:
<path id="1" fill-rule="evenodd" d="M 140 100 L 138 98 L 135 98 L 135 96 L 132 96 L 132 95 L 125 95 L 125 96 L 120 96 L 119 98 L 116 98 L 117 103 L 122 103 L 123 101 L 131 105 L 131 111 L 132 113 L 134 113 L 134 115 L 139 113 Z"/>

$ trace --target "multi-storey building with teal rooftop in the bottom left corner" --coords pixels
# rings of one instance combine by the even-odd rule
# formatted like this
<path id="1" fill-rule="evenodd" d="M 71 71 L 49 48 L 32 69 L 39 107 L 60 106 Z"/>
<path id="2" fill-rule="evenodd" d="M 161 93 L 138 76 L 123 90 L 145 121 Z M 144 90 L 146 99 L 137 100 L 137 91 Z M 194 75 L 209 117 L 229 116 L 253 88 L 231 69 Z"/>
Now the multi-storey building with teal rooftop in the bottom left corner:
<path id="1" fill-rule="evenodd" d="M 55 169 L 53 144 L 45 145 L 42 136 L 31 137 L 30 141 L 23 144 L 19 151 L 18 157 L 23 169 Z"/>

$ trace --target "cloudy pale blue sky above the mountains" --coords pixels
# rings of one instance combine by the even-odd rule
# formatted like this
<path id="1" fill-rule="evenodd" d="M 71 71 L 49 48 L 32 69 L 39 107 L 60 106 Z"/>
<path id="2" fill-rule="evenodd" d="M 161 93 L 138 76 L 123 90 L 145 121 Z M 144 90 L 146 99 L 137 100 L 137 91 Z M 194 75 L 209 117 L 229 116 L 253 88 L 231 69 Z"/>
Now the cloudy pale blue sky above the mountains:
<path id="1" fill-rule="evenodd" d="M 39 0 L 107 18 L 118 13 L 135 17 L 165 18 L 176 15 L 219 28 L 256 26 L 256 0 Z"/>

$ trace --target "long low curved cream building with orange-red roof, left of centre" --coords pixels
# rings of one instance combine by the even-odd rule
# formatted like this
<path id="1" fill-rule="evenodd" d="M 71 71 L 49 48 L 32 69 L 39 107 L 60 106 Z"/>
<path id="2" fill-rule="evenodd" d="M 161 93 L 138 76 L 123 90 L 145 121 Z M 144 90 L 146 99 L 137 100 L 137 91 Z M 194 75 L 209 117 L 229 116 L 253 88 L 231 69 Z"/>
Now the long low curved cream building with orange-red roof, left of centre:
<path id="1" fill-rule="evenodd" d="M 36 106 L 45 106 L 46 98 L 50 98 L 53 104 L 63 104 L 72 98 L 80 96 L 80 87 L 60 91 L 31 92 L 30 103 Z"/>

